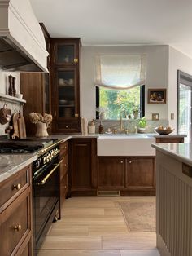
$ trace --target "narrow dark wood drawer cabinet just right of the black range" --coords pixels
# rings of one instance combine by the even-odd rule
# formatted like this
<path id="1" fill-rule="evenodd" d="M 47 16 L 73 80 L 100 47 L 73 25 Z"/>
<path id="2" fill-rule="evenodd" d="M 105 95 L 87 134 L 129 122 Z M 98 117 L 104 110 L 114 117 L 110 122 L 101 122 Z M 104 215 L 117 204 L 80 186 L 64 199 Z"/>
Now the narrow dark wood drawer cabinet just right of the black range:
<path id="1" fill-rule="evenodd" d="M 68 195 L 68 141 L 60 143 L 60 208 Z"/>

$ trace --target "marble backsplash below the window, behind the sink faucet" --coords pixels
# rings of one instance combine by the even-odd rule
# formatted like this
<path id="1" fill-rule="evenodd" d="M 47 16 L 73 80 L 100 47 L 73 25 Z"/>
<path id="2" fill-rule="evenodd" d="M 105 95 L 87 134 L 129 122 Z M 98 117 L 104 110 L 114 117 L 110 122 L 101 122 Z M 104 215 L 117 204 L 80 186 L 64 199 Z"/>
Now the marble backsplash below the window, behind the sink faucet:
<path id="1" fill-rule="evenodd" d="M 128 130 L 128 133 L 135 133 L 136 128 L 138 127 L 138 119 L 131 119 L 131 120 L 123 120 L 122 124 L 125 130 Z M 120 129 L 120 121 L 110 121 L 110 120 L 103 120 L 103 130 L 104 132 L 107 132 L 108 128 L 111 129 L 111 131 Z M 98 133 L 98 126 L 100 124 L 99 120 L 95 121 L 95 132 Z M 168 120 L 159 120 L 159 121 L 151 121 L 147 120 L 146 124 L 146 133 L 154 133 L 155 127 L 158 126 L 168 126 Z M 174 127 L 173 127 L 174 128 Z"/>

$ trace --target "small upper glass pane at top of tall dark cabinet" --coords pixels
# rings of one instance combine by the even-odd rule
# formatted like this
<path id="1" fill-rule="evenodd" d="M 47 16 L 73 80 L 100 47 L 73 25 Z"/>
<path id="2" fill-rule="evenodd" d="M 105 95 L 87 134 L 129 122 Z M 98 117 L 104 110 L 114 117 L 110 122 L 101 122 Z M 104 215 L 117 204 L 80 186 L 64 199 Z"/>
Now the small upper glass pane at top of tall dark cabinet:
<path id="1" fill-rule="evenodd" d="M 73 63 L 74 46 L 57 46 L 57 62 Z"/>

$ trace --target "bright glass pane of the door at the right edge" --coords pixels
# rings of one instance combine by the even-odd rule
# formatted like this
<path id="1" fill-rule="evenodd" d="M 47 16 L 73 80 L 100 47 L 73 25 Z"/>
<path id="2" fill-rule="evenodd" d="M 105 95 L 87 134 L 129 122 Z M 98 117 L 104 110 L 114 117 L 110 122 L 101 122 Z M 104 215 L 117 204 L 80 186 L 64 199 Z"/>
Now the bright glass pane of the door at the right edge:
<path id="1" fill-rule="evenodd" d="M 179 86 L 179 117 L 178 131 L 182 135 L 190 136 L 191 130 L 191 87 Z"/>

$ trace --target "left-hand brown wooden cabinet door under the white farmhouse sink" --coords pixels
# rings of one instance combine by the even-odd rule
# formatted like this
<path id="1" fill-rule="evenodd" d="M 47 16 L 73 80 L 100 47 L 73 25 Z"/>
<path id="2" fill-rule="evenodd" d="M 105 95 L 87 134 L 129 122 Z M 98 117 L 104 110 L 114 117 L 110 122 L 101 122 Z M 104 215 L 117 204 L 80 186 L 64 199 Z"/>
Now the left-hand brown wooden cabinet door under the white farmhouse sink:
<path id="1" fill-rule="evenodd" d="M 98 188 L 124 188 L 124 158 L 98 157 Z"/>

